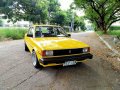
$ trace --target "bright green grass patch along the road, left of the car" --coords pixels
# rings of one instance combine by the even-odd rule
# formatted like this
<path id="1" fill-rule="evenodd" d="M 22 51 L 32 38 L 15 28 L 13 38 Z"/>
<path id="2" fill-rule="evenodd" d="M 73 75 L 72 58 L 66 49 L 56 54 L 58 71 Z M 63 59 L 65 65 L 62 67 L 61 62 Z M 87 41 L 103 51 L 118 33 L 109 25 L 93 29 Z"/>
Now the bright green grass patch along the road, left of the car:
<path id="1" fill-rule="evenodd" d="M 25 28 L 0 28 L 0 40 L 5 38 L 13 40 L 23 39 L 26 31 Z"/>

